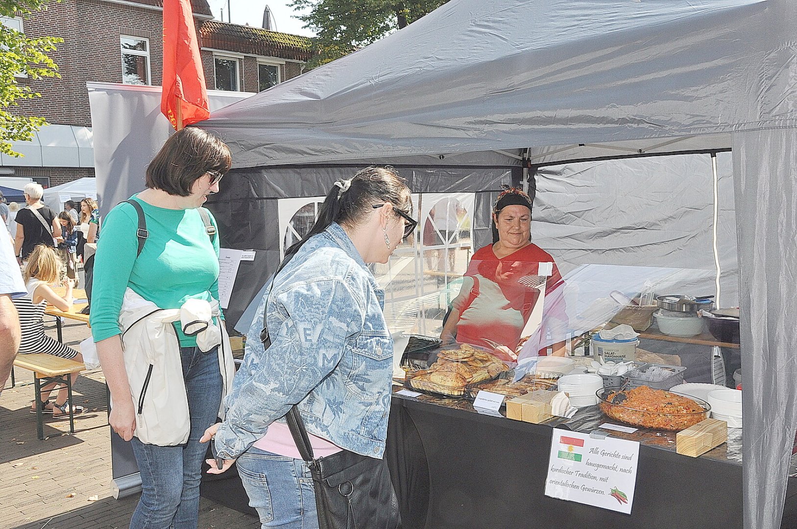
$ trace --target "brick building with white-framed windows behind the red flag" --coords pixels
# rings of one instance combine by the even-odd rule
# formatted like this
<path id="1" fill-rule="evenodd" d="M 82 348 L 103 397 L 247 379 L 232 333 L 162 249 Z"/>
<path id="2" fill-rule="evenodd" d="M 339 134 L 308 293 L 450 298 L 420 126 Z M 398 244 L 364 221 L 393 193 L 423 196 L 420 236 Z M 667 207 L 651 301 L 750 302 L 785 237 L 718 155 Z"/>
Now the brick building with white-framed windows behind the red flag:
<path id="1" fill-rule="evenodd" d="M 14 112 L 50 124 L 33 141 L 14 143 L 25 158 L 0 155 L 0 176 L 45 186 L 94 176 L 86 83 L 161 84 L 162 6 L 162 0 L 61 0 L 24 20 L 0 20 L 30 37 L 64 39 L 50 53 L 61 78 L 18 77 L 41 97 L 19 101 Z M 218 22 L 206 0 L 191 6 L 208 89 L 260 92 L 300 75 L 312 55 L 306 37 Z"/>

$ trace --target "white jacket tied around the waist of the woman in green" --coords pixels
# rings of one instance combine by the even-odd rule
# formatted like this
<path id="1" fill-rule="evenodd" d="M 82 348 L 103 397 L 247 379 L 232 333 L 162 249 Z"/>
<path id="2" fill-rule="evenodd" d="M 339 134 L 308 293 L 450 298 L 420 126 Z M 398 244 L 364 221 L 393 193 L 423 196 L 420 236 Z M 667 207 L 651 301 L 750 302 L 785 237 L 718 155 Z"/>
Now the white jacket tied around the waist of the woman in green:
<path id="1" fill-rule="evenodd" d="M 218 347 L 222 373 L 222 406 L 233 381 L 235 366 L 230 336 L 223 324 L 218 301 L 188 300 L 182 308 L 159 308 L 130 288 L 124 292 L 119 316 L 124 367 L 135 407 L 135 437 L 150 445 L 173 446 L 188 441 L 190 417 L 180 343 L 173 323 L 181 321 L 186 334 L 194 334 L 200 351 Z M 208 425 L 210 426 L 210 425 Z"/>

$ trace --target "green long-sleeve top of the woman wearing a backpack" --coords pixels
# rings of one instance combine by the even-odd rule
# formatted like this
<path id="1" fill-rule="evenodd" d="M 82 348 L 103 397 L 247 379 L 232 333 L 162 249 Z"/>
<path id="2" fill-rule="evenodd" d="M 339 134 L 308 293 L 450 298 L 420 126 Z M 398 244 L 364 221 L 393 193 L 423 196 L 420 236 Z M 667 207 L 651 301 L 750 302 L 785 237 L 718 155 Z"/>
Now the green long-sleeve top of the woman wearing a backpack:
<path id="1" fill-rule="evenodd" d="M 186 300 L 218 300 L 218 234 L 210 241 L 199 210 L 167 210 L 141 204 L 149 237 L 139 257 L 138 215 L 121 203 L 105 217 L 94 257 L 94 284 L 89 320 L 95 342 L 121 334 L 119 314 L 130 287 L 159 308 L 180 308 Z M 216 225 L 211 215 L 210 221 Z M 193 347 L 175 324 L 180 347 Z"/>

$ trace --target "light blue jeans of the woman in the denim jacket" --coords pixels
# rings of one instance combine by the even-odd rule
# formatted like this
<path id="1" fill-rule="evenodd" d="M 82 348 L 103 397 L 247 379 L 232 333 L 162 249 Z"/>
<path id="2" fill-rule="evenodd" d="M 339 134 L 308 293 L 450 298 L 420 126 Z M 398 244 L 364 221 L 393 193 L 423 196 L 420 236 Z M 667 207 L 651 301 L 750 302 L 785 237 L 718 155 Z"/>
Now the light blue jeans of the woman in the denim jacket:
<path id="1" fill-rule="evenodd" d="M 251 447 L 236 465 L 261 527 L 318 529 L 316 493 L 303 460 Z"/>

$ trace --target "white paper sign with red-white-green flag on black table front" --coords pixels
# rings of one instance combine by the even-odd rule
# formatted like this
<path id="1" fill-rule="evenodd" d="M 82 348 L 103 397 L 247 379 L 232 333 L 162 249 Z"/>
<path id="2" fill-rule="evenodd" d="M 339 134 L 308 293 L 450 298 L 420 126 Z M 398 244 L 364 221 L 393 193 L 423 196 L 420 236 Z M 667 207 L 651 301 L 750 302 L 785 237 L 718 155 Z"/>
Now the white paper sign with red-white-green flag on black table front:
<path id="1" fill-rule="evenodd" d="M 631 513 L 639 443 L 555 428 L 545 496 Z"/>

